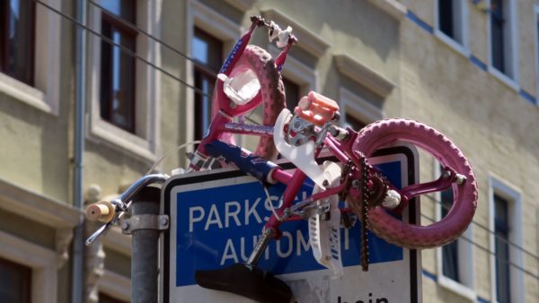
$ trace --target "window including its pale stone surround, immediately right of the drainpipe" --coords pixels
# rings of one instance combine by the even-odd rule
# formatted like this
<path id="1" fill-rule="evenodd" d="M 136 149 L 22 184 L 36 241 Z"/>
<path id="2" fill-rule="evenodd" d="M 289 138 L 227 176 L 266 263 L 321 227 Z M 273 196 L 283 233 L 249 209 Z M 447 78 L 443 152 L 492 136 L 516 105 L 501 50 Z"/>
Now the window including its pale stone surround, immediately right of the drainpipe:
<path id="1" fill-rule="evenodd" d="M 159 44 L 137 34 L 134 26 L 159 38 L 161 2 L 100 0 L 99 4 L 103 9 L 89 5 L 88 24 L 121 48 L 88 36 L 90 138 L 119 152 L 155 160 L 161 93 L 158 71 L 147 62 L 160 66 Z"/>

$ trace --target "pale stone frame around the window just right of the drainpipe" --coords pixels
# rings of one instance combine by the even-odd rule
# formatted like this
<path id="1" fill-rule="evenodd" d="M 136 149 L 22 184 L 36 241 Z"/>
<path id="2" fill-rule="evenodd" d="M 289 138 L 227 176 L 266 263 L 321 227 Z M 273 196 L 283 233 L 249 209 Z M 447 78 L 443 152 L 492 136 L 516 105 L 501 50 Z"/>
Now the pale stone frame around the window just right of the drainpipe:
<path id="1" fill-rule="evenodd" d="M 161 1 L 137 1 L 137 27 L 150 35 L 160 38 Z M 138 13 L 144 12 L 144 13 Z M 89 27 L 97 32 L 102 30 L 102 10 L 95 5 L 89 6 Z M 96 143 L 105 143 L 119 152 L 143 160 L 155 161 L 160 143 L 160 85 L 159 74 L 146 62 L 135 59 L 135 132 L 111 124 L 101 117 L 101 58 L 102 39 L 96 35 L 89 37 L 88 86 L 91 103 L 89 133 L 87 138 Z M 160 66 L 160 46 L 155 39 L 137 35 L 137 55 L 154 65 Z"/>

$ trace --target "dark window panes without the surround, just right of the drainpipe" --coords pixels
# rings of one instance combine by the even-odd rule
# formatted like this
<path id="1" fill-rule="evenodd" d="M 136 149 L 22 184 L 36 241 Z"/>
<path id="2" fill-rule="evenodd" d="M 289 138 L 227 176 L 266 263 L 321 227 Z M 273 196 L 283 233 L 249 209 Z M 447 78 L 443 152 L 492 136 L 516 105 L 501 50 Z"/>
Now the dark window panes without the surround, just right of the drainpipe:
<path id="1" fill-rule="evenodd" d="M 135 5 L 130 0 L 103 1 L 102 34 L 136 53 L 137 31 L 114 18 L 136 23 Z M 114 126 L 135 133 L 136 58 L 121 48 L 102 41 L 101 117 Z"/>

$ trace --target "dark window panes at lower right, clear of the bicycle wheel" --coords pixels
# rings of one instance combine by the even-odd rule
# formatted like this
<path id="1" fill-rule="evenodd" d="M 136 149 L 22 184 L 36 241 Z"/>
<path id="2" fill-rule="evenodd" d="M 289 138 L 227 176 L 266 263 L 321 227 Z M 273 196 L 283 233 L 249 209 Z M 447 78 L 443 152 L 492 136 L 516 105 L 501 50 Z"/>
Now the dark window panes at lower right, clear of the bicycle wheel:
<path id="1" fill-rule="evenodd" d="M 500 303 L 508 303 L 511 302 L 508 201 L 499 195 L 494 195 L 494 233 L 496 236 L 496 298 Z"/>

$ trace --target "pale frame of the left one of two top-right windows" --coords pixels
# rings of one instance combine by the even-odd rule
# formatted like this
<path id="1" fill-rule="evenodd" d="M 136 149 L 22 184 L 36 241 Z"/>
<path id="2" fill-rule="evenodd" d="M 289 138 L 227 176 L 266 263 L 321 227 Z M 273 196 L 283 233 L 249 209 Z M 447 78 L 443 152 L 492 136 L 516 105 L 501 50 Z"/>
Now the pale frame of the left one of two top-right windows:
<path id="1" fill-rule="evenodd" d="M 446 43 L 450 48 L 455 49 L 456 52 L 462 54 L 463 56 L 470 56 L 470 27 L 469 27 L 469 12 L 468 12 L 468 2 L 466 0 L 456 0 L 459 1 L 460 10 L 462 15 L 460 18 L 460 30 L 462 35 L 462 42 L 449 37 L 445 32 L 439 28 L 439 0 L 434 2 L 434 27 L 433 32 L 437 39 L 440 39 L 442 42 Z M 455 22 L 455 18 L 453 20 Z"/>

